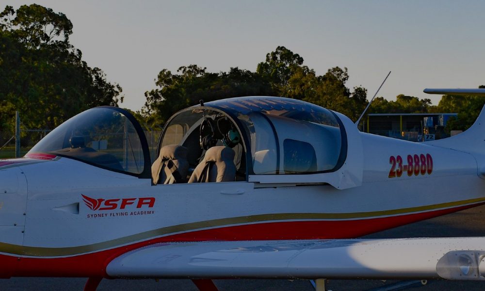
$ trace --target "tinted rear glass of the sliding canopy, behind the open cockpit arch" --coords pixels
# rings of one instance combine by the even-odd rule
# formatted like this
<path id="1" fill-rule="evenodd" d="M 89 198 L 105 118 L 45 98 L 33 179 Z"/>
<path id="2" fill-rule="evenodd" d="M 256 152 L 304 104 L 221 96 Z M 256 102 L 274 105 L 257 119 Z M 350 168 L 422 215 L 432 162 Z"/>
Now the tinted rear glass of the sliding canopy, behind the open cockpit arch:
<path id="1" fill-rule="evenodd" d="M 308 174 L 341 165 L 345 135 L 331 111 L 282 97 L 239 97 L 210 102 L 244 125 L 257 175 Z"/>

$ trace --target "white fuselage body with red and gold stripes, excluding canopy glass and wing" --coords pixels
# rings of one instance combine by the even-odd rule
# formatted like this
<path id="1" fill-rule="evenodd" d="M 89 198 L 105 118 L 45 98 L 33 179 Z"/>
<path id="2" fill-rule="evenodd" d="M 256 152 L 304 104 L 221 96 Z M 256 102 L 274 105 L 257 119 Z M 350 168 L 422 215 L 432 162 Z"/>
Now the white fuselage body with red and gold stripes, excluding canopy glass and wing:
<path id="1" fill-rule="evenodd" d="M 155 243 L 357 238 L 485 203 L 482 152 L 336 114 L 346 157 L 330 172 L 153 185 L 52 152 L 2 160 L 0 276 L 109 277 L 113 259 Z"/>

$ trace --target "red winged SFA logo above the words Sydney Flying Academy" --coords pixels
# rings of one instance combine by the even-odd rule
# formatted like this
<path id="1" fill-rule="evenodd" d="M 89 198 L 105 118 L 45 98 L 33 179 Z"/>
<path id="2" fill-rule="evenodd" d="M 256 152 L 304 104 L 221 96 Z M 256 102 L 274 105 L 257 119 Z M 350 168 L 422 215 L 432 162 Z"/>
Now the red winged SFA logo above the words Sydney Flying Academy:
<path id="1" fill-rule="evenodd" d="M 155 204 L 155 197 L 143 197 L 143 198 L 123 198 L 123 199 L 94 199 L 86 195 L 81 194 L 82 200 L 91 210 L 114 210 L 125 209 L 128 205 L 136 205 L 136 208 L 142 208 L 147 205 L 148 208 L 152 208 Z M 121 200 L 121 202 L 120 202 Z M 101 207 L 102 206 L 102 207 Z"/>

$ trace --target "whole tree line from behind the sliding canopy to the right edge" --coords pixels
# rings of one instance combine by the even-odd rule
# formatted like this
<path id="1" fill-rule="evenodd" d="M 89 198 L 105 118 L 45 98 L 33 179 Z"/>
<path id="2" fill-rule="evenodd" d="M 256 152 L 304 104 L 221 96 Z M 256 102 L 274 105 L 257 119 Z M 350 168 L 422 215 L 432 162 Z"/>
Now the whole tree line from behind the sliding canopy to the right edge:
<path id="1" fill-rule="evenodd" d="M 367 89 L 345 83 L 349 79 L 346 67 L 333 67 L 318 76 L 303 58 L 279 46 L 258 64 L 256 72 L 231 68 L 229 72 L 210 73 L 197 65 L 182 66 L 177 74 L 163 69 L 157 78 L 159 88 L 145 93 L 142 115 L 148 123 L 163 124 L 176 111 L 198 104 L 200 99 L 265 95 L 283 96 L 311 102 L 335 110 L 356 120 L 367 101 Z M 482 87 L 482 86 L 481 86 Z M 453 129 L 466 129 L 480 113 L 482 97 L 443 96 L 438 106 L 429 98 L 398 95 L 395 101 L 376 97 L 368 113 L 458 113 L 449 121 Z M 448 129 L 449 131 L 449 129 Z"/>

